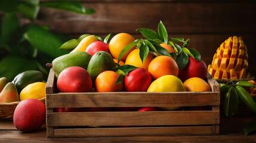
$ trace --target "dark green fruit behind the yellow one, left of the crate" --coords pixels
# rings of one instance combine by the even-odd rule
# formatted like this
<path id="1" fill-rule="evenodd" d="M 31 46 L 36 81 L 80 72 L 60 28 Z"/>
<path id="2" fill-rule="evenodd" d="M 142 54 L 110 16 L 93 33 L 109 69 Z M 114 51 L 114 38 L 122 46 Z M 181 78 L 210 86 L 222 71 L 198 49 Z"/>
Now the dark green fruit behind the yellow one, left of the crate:
<path id="1" fill-rule="evenodd" d="M 42 82 L 44 74 L 38 70 L 27 70 L 14 77 L 12 83 L 16 86 L 18 93 L 30 83 Z"/>

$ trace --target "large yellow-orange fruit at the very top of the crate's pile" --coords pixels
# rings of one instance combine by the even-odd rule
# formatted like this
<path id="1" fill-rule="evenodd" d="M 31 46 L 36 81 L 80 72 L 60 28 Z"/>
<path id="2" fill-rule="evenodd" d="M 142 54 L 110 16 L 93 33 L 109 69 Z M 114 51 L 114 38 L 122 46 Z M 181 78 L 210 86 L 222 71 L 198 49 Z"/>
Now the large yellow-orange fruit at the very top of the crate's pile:
<path id="1" fill-rule="evenodd" d="M 129 35 L 128 33 L 119 33 L 115 35 L 109 42 L 109 51 L 113 58 L 118 59 L 118 56 L 122 49 L 125 48 L 129 43 L 134 42 L 135 39 L 133 36 Z M 129 52 L 136 48 L 136 45 L 132 47 L 127 54 L 122 57 L 122 61 L 125 61 Z"/>

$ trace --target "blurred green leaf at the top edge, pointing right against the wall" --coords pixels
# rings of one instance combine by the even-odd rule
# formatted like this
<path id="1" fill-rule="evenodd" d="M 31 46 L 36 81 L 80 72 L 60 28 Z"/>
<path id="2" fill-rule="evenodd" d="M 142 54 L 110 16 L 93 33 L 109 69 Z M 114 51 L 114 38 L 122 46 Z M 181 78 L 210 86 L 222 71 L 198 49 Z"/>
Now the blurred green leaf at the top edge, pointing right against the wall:
<path id="1" fill-rule="evenodd" d="M 40 4 L 42 7 L 56 8 L 59 10 L 71 11 L 79 14 L 94 14 L 93 8 L 84 8 L 78 1 L 47 1 Z"/>

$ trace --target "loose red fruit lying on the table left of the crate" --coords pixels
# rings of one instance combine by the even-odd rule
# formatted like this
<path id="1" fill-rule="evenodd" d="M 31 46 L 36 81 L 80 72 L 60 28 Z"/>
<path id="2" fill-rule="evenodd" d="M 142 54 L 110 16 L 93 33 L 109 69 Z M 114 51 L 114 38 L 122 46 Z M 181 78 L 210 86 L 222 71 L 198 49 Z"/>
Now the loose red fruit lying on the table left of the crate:
<path id="1" fill-rule="evenodd" d="M 36 99 L 26 99 L 18 103 L 13 114 L 13 123 L 22 132 L 32 132 L 45 123 L 45 105 Z"/>

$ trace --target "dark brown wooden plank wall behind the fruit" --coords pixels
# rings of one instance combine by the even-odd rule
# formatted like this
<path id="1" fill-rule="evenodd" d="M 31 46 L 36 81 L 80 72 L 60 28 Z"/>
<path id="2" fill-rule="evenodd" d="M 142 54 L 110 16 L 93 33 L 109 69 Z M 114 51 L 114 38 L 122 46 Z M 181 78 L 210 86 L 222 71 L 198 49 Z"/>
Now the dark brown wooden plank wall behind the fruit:
<path id="1" fill-rule="evenodd" d="M 46 1 L 46 0 L 44 0 Z M 41 1 L 41 2 L 44 2 Z M 41 8 L 37 24 L 46 24 L 55 33 L 78 38 L 90 33 L 105 37 L 144 27 L 157 31 L 160 20 L 169 38 L 189 38 L 188 48 L 197 49 L 208 65 L 220 44 L 229 36 L 242 36 L 249 52 L 249 72 L 256 76 L 256 1 L 248 0 L 80 0 L 97 11 L 93 15 L 74 14 Z M 21 18 L 21 23 L 29 21 Z"/>

